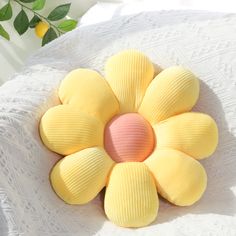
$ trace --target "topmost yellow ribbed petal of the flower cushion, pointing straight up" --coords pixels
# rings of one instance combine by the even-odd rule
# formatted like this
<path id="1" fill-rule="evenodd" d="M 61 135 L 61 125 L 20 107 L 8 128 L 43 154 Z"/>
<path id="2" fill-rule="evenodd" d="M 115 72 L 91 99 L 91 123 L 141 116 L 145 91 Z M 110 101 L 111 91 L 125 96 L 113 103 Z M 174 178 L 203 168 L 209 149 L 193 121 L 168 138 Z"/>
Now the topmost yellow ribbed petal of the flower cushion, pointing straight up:
<path id="1" fill-rule="evenodd" d="M 120 102 L 121 113 L 136 112 L 153 79 L 154 67 L 142 53 L 127 50 L 107 61 L 105 74 Z"/>

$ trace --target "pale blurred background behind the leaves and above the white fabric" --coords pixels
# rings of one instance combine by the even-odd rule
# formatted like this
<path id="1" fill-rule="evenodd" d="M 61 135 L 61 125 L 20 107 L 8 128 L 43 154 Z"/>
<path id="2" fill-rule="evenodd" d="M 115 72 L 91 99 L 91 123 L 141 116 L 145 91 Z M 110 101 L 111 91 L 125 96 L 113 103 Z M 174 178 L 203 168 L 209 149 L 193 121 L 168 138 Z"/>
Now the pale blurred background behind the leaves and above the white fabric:
<path id="1" fill-rule="evenodd" d="M 57 0 L 46 1 L 46 5 L 42 13 L 48 14 L 56 6 L 64 3 L 72 3 L 69 12 L 69 17 L 74 19 L 80 19 L 88 9 L 94 6 L 98 1 L 96 0 Z M 176 10 L 176 9 L 194 9 L 194 10 L 206 10 L 216 12 L 236 12 L 235 0 L 110 0 L 100 1 L 110 4 L 128 3 L 135 4 L 144 3 L 149 4 L 153 2 L 158 6 L 160 10 Z M 7 3 L 7 0 L 0 0 L 0 8 Z M 19 12 L 18 5 L 13 4 L 14 15 Z M 19 8 L 19 10 L 17 9 Z M 109 8 L 108 8 L 109 11 Z M 96 15 L 93 22 L 96 22 Z M 14 19 L 14 16 L 13 16 Z M 6 28 L 11 35 L 11 41 L 4 40 L 0 37 L 0 84 L 8 80 L 15 72 L 19 71 L 24 65 L 26 59 L 32 55 L 35 50 L 41 47 L 41 40 L 35 37 L 34 30 L 27 31 L 24 35 L 19 36 L 13 28 L 13 20 L 4 21 L 1 24 Z M 79 27 L 79 25 L 78 25 Z"/>

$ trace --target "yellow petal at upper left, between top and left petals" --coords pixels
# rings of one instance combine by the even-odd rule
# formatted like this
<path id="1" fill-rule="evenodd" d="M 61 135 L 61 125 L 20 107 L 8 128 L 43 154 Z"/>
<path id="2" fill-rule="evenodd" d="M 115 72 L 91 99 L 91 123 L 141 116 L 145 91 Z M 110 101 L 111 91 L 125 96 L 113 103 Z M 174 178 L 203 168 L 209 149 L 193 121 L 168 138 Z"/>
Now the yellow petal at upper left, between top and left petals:
<path id="1" fill-rule="evenodd" d="M 119 112 L 118 101 L 107 81 L 96 71 L 77 69 L 62 81 L 59 97 L 106 123 Z"/>

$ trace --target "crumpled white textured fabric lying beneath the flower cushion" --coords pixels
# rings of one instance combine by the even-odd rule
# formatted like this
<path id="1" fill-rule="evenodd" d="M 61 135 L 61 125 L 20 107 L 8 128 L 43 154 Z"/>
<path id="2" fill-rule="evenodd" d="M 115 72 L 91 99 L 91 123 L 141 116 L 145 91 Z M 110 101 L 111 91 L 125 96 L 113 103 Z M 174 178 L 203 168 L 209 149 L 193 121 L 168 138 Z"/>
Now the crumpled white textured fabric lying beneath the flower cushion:
<path id="1" fill-rule="evenodd" d="M 127 48 L 166 68 L 183 65 L 201 80 L 194 108 L 219 127 L 219 146 L 202 161 L 208 173 L 203 198 L 191 207 L 161 200 L 145 228 L 109 222 L 102 196 L 83 206 L 61 201 L 49 172 L 59 156 L 38 134 L 42 114 L 59 103 L 57 88 L 78 67 L 103 73 L 106 59 Z M 0 235 L 236 235 L 236 15 L 152 11 L 81 26 L 39 50 L 28 66 L 0 87 Z"/>

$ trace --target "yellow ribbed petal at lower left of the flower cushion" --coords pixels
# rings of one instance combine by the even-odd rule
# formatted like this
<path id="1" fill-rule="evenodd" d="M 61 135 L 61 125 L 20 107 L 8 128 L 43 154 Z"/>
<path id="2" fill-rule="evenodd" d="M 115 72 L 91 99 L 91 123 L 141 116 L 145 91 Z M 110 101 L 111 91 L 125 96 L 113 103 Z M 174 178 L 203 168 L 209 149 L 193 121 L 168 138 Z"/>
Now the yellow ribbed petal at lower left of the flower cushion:
<path id="1" fill-rule="evenodd" d="M 102 148 L 84 149 L 61 159 L 53 167 L 52 187 L 69 204 L 87 203 L 106 185 L 113 164 Z"/>

